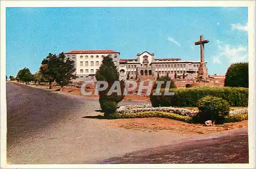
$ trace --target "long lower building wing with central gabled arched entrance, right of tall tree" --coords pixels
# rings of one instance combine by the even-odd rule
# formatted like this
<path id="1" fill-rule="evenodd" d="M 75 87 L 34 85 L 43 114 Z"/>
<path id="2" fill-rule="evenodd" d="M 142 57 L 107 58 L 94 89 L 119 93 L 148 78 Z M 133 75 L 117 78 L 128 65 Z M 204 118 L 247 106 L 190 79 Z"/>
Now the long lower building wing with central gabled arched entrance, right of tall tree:
<path id="1" fill-rule="evenodd" d="M 165 76 L 171 78 L 194 78 L 197 76 L 200 61 L 181 61 L 177 58 L 158 59 L 154 53 L 144 51 L 137 54 L 136 59 L 119 59 L 120 79 L 143 76 Z M 176 74 L 176 75 L 175 75 Z"/>

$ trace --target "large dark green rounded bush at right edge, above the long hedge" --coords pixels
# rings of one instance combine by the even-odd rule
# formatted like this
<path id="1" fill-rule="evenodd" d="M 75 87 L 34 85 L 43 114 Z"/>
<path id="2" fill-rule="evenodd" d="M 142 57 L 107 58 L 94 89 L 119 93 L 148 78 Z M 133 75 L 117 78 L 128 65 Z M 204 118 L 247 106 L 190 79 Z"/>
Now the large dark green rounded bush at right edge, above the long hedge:
<path id="1" fill-rule="evenodd" d="M 249 86 L 248 63 L 231 64 L 225 75 L 225 87 Z"/>

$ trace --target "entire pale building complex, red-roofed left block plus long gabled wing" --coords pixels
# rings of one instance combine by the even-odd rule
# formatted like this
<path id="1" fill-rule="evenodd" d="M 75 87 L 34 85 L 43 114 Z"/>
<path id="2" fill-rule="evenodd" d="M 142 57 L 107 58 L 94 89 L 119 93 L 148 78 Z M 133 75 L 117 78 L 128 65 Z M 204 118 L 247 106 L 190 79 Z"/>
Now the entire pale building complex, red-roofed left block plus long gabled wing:
<path id="1" fill-rule="evenodd" d="M 136 59 L 119 59 L 120 52 L 114 50 L 72 50 L 65 55 L 75 61 L 78 76 L 75 81 L 96 80 L 96 71 L 106 55 L 113 58 L 120 80 L 126 80 L 128 74 L 130 79 L 136 76 L 141 79 L 152 76 L 154 79 L 158 74 L 165 76 L 167 73 L 171 78 L 193 79 L 197 76 L 200 63 L 200 61 L 182 61 L 175 58 L 158 59 L 155 58 L 154 53 L 147 51 L 138 53 Z"/>

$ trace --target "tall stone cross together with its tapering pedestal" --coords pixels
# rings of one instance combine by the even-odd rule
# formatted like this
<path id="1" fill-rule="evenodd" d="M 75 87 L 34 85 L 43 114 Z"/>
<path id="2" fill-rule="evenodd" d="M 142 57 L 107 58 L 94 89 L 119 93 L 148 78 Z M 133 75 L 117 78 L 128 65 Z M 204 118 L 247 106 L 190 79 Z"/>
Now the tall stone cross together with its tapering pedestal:
<path id="1" fill-rule="evenodd" d="M 204 61 L 204 44 L 208 43 L 209 40 L 204 40 L 203 35 L 200 35 L 199 41 L 195 42 L 195 45 L 200 45 L 200 65 L 198 68 L 198 77 L 203 76 L 205 78 L 208 77 L 208 70 L 206 67 L 206 62 Z"/>

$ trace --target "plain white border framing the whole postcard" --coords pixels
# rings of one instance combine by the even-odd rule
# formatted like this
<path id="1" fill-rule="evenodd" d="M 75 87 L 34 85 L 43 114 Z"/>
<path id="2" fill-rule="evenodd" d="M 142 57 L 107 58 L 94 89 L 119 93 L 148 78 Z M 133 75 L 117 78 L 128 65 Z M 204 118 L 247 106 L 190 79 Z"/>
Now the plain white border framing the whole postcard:
<path id="1" fill-rule="evenodd" d="M 6 7 L 248 7 L 249 164 L 6 164 Z M 1 1 L 1 167 L 2 168 L 253 168 L 255 130 L 254 1 Z"/>

